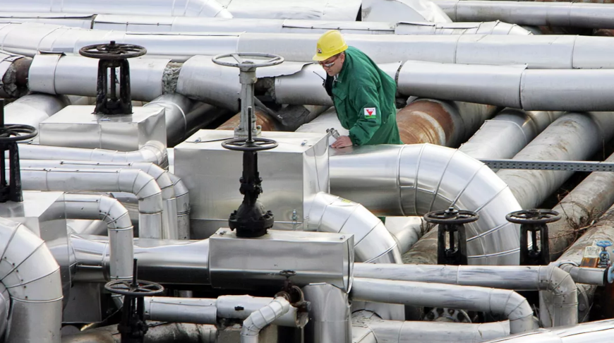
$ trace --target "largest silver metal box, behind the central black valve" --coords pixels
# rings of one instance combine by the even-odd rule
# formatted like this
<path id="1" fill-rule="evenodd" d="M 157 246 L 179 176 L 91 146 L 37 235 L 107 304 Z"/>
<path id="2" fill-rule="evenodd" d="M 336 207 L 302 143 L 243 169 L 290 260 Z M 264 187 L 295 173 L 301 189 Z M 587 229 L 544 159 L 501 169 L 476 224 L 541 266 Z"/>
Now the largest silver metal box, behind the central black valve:
<path id="1" fill-rule="evenodd" d="M 191 237 L 205 239 L 220 227 L 243 201 L 239 178 L 243 153 L 222 148 L 234 132 L 200 130 L 174 148 L 174 172 L 190 189 Z M 279 146 L 258 152 L 263 179 L 260 201 L 275 215 L 274 229 L 303 230 L 311 201 L 329 192 L 327 135 L 263 132 Z"/>

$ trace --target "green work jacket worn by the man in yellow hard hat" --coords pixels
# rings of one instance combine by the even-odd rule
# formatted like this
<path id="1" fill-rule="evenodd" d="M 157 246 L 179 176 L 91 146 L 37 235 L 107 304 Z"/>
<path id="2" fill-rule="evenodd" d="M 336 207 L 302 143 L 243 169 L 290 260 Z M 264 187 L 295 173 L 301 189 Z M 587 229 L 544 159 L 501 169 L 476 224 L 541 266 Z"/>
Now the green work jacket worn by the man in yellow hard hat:
<path id="1" fill-rule="evenodd" d="M 397 127 L 396 92 L 395 80 L 359 49 L 347 48 L 343 68 L 332 81 L 332 99 L 352 144 L 403 144 Z"/>

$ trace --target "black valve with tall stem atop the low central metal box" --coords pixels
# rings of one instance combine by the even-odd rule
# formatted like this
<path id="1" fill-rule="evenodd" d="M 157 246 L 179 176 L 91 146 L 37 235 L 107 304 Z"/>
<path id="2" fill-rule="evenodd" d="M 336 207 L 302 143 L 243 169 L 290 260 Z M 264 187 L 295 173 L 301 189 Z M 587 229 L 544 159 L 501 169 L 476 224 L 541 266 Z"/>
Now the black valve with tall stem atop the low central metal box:
<path id="1" fill-rule="evenodd" d="M 251 118 L 253 109 L 248 107 L 248 116 Z M 228 219 L 231 230 L 236 229 L 239 237 L 260 237 L 273 227 L 275 217 L 271 211 L 258 200 L 263 193 L 261 183 L 263 181 L 258 173 L 258 151 L 269 150 L 277 147 L 275 140 L 266 138 L 252 138 L 252 121 L 248 121 L 248 138 L 234 138 L 222 143 L 222 147 L 228 150 L 243 152 L 243 176 L 239 191 L 243 194 L 243 203 L 232 212 Z"/>

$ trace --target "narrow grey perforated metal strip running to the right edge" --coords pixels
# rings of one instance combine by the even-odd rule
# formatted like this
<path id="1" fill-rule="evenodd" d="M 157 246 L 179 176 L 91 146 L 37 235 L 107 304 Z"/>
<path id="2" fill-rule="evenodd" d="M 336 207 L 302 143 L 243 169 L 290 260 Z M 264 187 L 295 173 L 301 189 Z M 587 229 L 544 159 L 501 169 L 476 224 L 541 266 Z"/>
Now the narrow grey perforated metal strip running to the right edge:
<path id="1" fill-rule="evenodd" d="M 573 172 L 614 172 L 614 162 L 480 160 L 492 169 L 567 170 Z"/>

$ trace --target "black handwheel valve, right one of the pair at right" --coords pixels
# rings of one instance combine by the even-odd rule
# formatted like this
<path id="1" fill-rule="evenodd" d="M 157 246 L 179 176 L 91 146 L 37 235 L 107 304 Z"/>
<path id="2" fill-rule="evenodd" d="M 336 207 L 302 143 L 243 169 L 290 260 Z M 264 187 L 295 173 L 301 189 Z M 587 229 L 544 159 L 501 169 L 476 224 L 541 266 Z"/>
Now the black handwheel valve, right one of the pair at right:
<path id="1" fill-rule="evenodd" d="M 548 246 L 547 223 L 560 219 L 558 212 L 553 210 L 520 210 L 505 216 L 508 222 L 520 224 L 520 265 L 548 265 L 550 263 L 550 248 Z M 529 232 L 531 233 L 531 249 L 529 250 Z M 539 232 L 540 243 L 537 243 Z"/>

